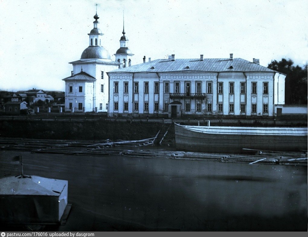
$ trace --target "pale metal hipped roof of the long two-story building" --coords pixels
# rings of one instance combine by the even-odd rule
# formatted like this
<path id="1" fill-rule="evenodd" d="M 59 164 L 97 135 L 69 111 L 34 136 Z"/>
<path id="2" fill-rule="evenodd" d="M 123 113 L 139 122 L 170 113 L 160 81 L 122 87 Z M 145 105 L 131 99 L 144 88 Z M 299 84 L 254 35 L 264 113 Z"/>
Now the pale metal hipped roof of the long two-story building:
<path id="1" fill-rule="evenodd" d="M 230 68 L 232 66 L 232 68 Z M 275 72 L 272 69 L 242 58 L 157 59 L 120 68 L 113 72 Z"/>

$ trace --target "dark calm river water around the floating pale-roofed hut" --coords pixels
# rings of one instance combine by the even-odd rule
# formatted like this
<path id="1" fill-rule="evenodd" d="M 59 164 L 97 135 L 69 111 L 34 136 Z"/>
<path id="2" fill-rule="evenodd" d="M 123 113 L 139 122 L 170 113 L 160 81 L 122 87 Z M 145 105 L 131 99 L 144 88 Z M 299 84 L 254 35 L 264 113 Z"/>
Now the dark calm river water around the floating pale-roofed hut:
<path id="1" fill-rule="evenodd" d="M 68 180 L 67 223 L 45 231 L 307 230 L 307 166 L 3 150 L 1 177 L 19 174 L 16 155 Z"/>

